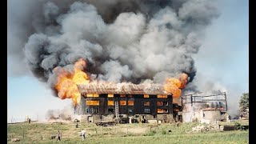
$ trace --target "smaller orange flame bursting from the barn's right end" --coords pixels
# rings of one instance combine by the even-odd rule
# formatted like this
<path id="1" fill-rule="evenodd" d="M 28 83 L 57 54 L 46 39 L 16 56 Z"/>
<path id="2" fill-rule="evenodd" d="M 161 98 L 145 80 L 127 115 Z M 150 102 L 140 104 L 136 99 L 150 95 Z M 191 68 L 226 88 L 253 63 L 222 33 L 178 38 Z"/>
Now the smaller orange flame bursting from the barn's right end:
<path id="1" fill-rule="evenodd" d="M 171 94 L 174 98 L 179 98 L 182 94 L 182 88 L 185 88 L 187 83 L 187 74 L 180 74 L 179 78 L 167 78 L 166 83 L 164 84 L 164 89 Z"/>

